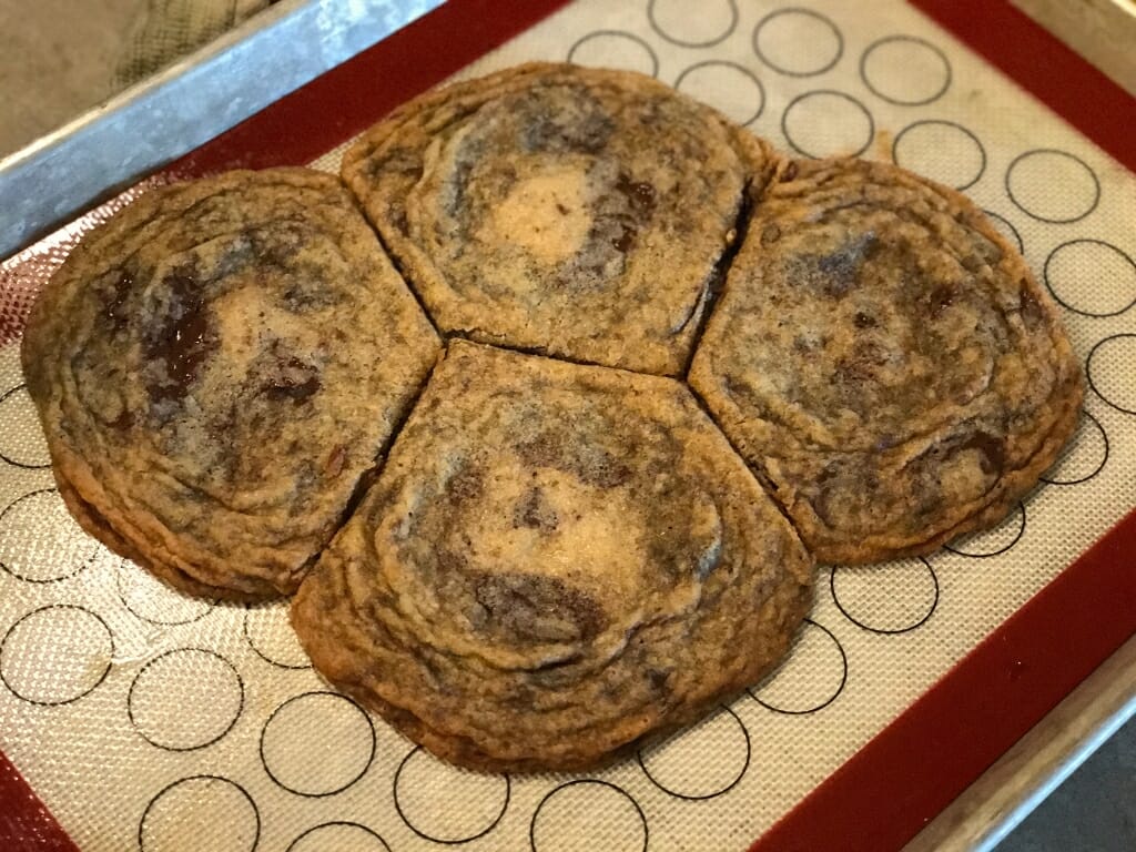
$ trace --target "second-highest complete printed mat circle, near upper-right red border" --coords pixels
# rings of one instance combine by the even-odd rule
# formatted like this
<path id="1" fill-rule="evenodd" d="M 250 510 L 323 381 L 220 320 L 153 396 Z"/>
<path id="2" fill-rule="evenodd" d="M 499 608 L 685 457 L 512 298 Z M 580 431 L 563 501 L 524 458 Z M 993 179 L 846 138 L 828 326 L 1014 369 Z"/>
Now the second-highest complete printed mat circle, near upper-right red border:
<path id="1" fill-rule="evenodd" d="M 863 51 L 860 77 L 885 101 L 918 107 L 938 100 L 951 87 L 951 62 L 930 42 L 889 35 Z"/>

